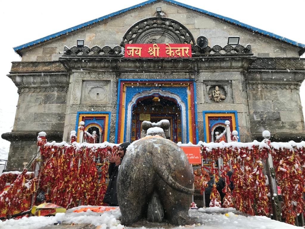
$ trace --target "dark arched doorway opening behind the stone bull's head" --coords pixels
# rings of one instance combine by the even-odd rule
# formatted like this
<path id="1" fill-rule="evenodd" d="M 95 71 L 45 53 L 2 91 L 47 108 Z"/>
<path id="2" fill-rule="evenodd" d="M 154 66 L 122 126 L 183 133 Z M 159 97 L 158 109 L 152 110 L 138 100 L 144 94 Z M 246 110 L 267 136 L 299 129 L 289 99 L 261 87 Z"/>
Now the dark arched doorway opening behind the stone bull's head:
<path id="1" fill-rule="evenodd" d="M 151 95 L 137 101 L 131 110 L 131 142 L 140 139 L 143 121 L 170 122 L 170 140 L 181 141 L 181 108 L 173 98 Z"/>

